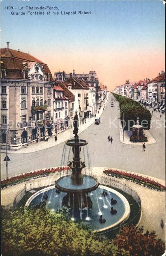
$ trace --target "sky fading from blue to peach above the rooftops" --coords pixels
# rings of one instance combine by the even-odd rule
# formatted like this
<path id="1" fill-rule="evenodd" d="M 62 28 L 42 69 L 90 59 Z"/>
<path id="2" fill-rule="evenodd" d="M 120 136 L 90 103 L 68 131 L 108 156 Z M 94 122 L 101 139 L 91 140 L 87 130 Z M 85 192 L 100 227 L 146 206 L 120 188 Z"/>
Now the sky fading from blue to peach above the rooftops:
<path id="1" fill-rule="evenodd" d="M 10 42 L 11 49 L 46 63 L 52 75 L 93 70 L 113 90 L 127 79 L 152 79 L 165 71 L 165 5 L 161 0 L 2 0 L 0 7 L 1 48 Z M 48 9 L 26 9 L 32 7 Z M 73 11 L 76 14 L 64 14 Z"/>

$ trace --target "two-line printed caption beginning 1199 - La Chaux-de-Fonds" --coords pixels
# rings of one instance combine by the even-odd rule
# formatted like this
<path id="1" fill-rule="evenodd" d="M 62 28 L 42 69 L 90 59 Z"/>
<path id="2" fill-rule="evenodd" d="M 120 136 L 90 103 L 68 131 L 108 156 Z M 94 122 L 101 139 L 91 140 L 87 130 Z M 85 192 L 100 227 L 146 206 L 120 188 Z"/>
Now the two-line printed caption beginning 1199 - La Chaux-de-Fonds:
<path id="1" fill-rule="evenodd" d="M 58 7 L 54 6 L 40 6 L 40 7 L 13 7 L 5 6 L 5 10 L 11 11 L 11 15 L 91 15 L 92 11 L 81 10 L 81 11 L 60 11 Z"/>

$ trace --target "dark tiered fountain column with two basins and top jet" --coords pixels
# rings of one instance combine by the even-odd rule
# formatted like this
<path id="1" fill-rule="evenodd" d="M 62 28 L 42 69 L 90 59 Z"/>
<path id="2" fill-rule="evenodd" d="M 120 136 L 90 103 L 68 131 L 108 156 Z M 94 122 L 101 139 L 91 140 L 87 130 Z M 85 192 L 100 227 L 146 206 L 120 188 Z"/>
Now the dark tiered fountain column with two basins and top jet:
<path id="1" fill-rule="evenodd" d="M 85 163 L 80 162 L 80 152 L 81 147 L 86 146 L 88 143 L 78 137 L 79 117 L 77 113 L 77 110 L 75 110 L 74 139 L 66 142 L 68 146 L 72 147 L 74 155 L 73 161 L 68 163 L 68 166 L 72 169 L 72 174 L 60 177 L 55 182 L 55 187 L 59 191 L 67 192 L 67 195 L 63 197 L 62 205 L 75 210 L 92 207 L 92 201 L 87 194 L 99 186 L 99 182 L 94 177 L 82 174 Z"/>

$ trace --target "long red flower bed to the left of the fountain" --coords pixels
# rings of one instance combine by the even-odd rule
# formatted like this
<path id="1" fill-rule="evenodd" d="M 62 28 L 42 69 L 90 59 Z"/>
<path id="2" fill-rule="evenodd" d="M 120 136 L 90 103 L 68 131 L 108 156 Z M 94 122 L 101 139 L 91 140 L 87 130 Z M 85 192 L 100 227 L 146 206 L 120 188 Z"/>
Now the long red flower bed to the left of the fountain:
<path id="1" fill-rule="evenodd" d="M 11 186 L 20 182 L 27 181 L 30 178 L 44 177 L 44 176 L 48 176 L 51 173 L 61 172 L 66 170 L 70 170 L 70 167 L 64 166 L 64 167 L 46 168 L 42 170 L 35 170 L 32 172 L 19 174 L 13 177 L 9 177 L 8 179 L 5 179 L 5 180 L 1 180 L 1 188 L 4 188 L 4 187 L 7 188 L 7 186 Z"/>

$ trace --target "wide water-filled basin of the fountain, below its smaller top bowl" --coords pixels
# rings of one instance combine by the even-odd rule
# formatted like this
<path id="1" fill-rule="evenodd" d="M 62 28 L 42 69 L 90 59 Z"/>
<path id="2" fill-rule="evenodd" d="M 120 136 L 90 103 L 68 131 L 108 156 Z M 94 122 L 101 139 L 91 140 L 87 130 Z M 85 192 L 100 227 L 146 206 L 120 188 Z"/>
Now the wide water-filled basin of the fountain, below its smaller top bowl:
<path id="1" fill-rule="evenodd" d="M 70 175 L 63 176 L 55 182 L 55 187 L 60 191 L 69 193 L 88 193 L 95 190 L 99 186 L 99 182 L 92 176 L 83 175 L 81 183 L 76 184 Z"/>

